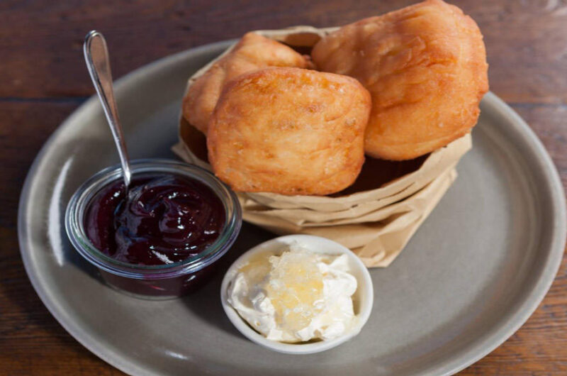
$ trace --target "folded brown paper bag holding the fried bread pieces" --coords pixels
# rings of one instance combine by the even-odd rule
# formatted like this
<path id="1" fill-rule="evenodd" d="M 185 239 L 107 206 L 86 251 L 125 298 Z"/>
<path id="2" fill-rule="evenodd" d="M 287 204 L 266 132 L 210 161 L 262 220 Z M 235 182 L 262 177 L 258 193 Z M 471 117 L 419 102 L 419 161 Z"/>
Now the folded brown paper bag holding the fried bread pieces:
<path id="1" fill-rule="evenodd" d="M 321 35 L 333 29 L 296 26 L 257 33 L 295 48 L 310 48 Z M 217 59 L 193 74 L 187 87 Z M 370 180 L 371 187 L 366 182 L 359 190 L 357 180 L 354 189 L 344 194 L 285 196 L 237 192 L 242 216 L 245 221 L 279 235 L 306 233 L 330 238 L 357 253 L 367 267 L 387 267 L 454 182 L 456 164 L 471 146 L 471 136 L 466 135 L 423 157 L 422 162 L 415 162 L 415 168 L 402 176 L 393 174 L 393 179 L 386 176 L 386 182 L 376 181 L 376 187 Z M 179 123 L 179 143 L 172 150 L 186 162 L 211 170 L 205 136 L 183 116 Z M 384 168 L 390 167 L 388 163 L 396 162 L 373 164 L 367 158 L 361 175 L 378 176 L 384 170 L 392 173 Z"/>

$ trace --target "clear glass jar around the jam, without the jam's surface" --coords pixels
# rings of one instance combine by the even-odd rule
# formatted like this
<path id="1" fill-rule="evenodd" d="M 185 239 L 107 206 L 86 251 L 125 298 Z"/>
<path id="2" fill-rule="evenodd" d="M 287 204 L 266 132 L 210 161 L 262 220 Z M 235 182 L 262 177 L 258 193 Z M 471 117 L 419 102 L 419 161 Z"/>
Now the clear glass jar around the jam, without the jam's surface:
<path id="1" fill-rule="evenodd" d="M 77 251 L 99 268 L 103 280 L 121 292 L 144 299 L 172 299 L 202 284 L 215 269 L 215 261 L 235 242 L 242 225 L 236 194 L 201 167 L 174 160 L 135 160 L 133 177 L 168 174 L 194 179 L 217 195 L 225 209 L 225 223 L 218 238 L 198 255 L 165 265 L 135 265 L 111 258 L 98 250 L 86 235 L 85 216 L 91 200 L 101 189 L 122 179 L 120 166 L 108 167 L 88 179 L 73 194 L 65 213 L 67 236 Z"/>

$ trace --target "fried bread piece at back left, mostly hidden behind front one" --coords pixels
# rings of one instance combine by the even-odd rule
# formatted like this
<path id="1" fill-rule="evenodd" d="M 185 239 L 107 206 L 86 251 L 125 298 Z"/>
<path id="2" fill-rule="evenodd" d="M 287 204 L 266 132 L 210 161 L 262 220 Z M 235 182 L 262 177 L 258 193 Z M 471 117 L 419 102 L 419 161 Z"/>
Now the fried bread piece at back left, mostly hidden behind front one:
<path id="1" fill-rule="evenodd" d="M 288 46 L 257 33 L 247 33 L 228 55 L 215 62 L 189 87 L 183 99 L 183 116 L 206 134 L 208 119 L 218 96 L 231 79 L 264 67 L 305 68 L 309 65 L 308 57 Z"/>

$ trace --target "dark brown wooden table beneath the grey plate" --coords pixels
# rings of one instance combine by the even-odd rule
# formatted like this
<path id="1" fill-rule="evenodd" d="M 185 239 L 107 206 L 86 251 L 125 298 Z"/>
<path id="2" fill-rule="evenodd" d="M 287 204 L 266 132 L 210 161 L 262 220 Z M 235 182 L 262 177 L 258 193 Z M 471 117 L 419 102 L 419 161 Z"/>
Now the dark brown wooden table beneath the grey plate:
<path id="1" fill-rule="evenodd" d="M 0 373 L 121 375 L 89 353 L 35 294 L 18 253 L 18 196 L 52 131 L 93 94 L 82 60 L 90 29 L 108 39 L 115 77 L 197 45 L 246 31 L 335 26 L 411 0 L 17 1 L 0 3 Z M 286 4 L 283 4 L 286 3 Z M 567 186 L 567 5 L 558 0 L 468 0 L 490 89 L 529 123 Z M 461 375 L 567 374 L 567 258 L 527 323 Z"/>

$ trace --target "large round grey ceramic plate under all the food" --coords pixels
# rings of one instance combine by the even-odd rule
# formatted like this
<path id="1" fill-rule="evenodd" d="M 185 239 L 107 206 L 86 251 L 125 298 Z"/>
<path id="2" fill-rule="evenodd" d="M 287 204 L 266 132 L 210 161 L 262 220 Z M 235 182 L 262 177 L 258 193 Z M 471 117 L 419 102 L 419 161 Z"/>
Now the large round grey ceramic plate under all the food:
<path id="1" fill-rule="evenodd" d="M 120 115 L 133 157 L 174 157 L 187 77 L 228 42 L 159 60 L 120 79 Z M 86 74 L 86 70 L 85 70 Z M 459 178 L 387 269 L 372 270 L 364 331 L 315 355 L 283 355 L 241 336 L 223 314 L 220 280 L 232 260 L 273 237 L 244 226 L 221 272 L 198 293 L 146 302 L 104 286 L 65 236 L 64 207 L 87 177 L 118 162 L 96 99 L 45 144 L 23 188 L 18 231 L 33 286 L 53 316 L 93 353 L 133 375 L 442 375 L 503 343 L 554 279 L 565 204 L 534 133 L 488 94 Z"/>

